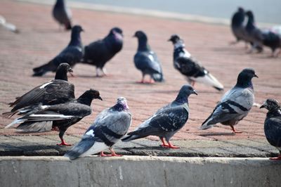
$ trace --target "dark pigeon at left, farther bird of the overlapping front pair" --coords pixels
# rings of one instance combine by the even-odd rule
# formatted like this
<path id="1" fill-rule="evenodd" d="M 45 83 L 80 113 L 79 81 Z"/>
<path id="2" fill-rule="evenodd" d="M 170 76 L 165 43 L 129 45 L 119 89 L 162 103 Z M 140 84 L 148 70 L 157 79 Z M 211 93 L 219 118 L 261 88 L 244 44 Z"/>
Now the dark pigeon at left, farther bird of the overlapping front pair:
<path id="1" fill-rule="evenodd" d="M 13 109 L 4 115 L 11 117 L 18 112 L 29 112 L 39 104 L 55 105 L 74 100 L 74 85 L 67 82 L 67 72 L 73 72 L 72 68 L 67 63 L 61 63 L 55 73 L 55 79 L 35 87 L 13 103 L 9 103 Z"/>

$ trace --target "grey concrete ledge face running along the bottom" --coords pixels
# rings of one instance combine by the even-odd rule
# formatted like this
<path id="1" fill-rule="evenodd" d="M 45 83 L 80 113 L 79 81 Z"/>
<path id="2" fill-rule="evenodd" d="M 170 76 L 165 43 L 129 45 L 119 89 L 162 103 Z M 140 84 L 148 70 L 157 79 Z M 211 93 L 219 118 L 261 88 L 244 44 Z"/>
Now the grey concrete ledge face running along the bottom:
<path id="1" fill-rule="evenodd" d="M 279 186 L 281 162 L 226 157 L 0 157 L 1 186 Z"/>

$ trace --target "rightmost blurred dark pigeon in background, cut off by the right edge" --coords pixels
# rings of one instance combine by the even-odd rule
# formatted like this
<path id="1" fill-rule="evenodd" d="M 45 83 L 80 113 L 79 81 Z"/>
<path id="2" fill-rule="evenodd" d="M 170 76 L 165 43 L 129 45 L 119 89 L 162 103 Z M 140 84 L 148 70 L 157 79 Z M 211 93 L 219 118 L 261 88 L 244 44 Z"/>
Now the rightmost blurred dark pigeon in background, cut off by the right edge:
<path id="1" fill-rule="evenodd" d="M 263 31 L 263 45 L 268 46 L 272 51 L 272 56 L 275 57 L 279 52 L 276 52 L 276 49 L 280 48 L 281 50 L 281 36 L 271 31 Z"/>

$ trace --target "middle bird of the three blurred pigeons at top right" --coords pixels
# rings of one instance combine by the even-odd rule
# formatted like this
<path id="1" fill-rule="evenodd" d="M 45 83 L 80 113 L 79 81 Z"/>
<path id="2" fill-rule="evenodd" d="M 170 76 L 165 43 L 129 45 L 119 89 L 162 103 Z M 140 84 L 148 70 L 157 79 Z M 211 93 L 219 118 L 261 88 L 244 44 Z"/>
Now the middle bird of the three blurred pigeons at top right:
<path id="1" fill-rule="evenodd" d="M 251 43 L 251 51 L 256 49 L 258 52 L 263 51 L 263 34 L 262 31 L 256 27 L 254 21 L 254 14 L 251 11 L 247 11 L 248 22 L 245 27 L 245 40 Z"/>

